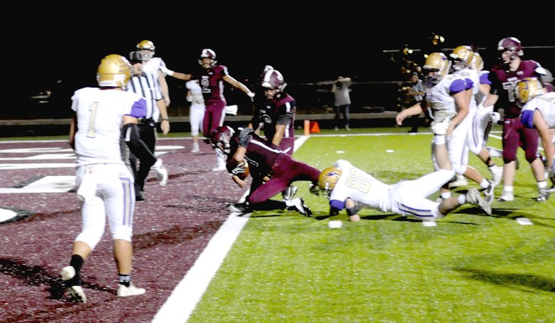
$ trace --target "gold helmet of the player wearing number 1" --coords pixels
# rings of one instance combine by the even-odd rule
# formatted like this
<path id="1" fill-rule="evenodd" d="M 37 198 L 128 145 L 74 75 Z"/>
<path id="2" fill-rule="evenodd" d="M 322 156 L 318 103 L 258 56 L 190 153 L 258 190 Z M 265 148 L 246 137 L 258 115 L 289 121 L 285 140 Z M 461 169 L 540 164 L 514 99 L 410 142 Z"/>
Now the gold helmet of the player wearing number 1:
<path id="1" fill-rule="evenodd" d="M 96 73 L 100 87 L 126 89 L 131 78 L 131 64 L 121 55 L 112 54 L 103 58 Z"/>

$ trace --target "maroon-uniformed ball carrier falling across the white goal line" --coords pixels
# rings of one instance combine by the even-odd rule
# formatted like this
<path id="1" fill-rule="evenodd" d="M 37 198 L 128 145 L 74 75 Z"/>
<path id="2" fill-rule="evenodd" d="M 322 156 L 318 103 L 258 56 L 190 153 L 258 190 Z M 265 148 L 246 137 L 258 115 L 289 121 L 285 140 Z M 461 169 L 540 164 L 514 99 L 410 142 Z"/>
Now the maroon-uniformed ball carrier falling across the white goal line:
<path id="1" fill-rule="evenodd" d="M 230 204 L 230 211 L 250 213 L 254 210 L 288 209 L 312 216 L 302 198 L 283 201 L 271 198 L 298 180 L 311 181 L 316 187 L 320 175 L 317 168 L 296 161 L 278 146 L 259 137 L 251 128 L 238 128 L 235 131 L 224 125 L 212 131 L 210 140 L 216 154 L 225 155 L 228 172 L 235 184 L 246 187 L 246 177 L 242 175 L 246 171 L 246 164 L 253 177 L 246 201 Z"/>

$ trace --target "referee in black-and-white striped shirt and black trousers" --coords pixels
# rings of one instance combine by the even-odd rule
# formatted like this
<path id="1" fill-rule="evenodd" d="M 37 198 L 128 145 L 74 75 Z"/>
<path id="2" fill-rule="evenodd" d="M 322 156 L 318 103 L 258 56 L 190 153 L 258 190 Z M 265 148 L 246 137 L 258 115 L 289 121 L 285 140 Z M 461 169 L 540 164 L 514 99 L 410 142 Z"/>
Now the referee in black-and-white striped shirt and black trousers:
<path id="1" fill-rule="evenodd" d="M 130 154 L 129 161 L 133 175 L 135 175 L 135 199 L 137 201 L 144 200 L 144 182 L 151 171 L 151 167 L 156 172 L 157 179 L 160 180 L 160 186 L 166 186 L 168 180 L 168 172 L 162 165 L 162 159 L 157 159 L 154 155 L 156 147 L 156 123 L 161 120 L 160 128 L 163 134 L 169 132 L 169 119 L 166 105 L 160 94 L 158 83 L 151 73 L 143 71 L 143 55 L 140 51 L 132 51 L 130 54 L 130 62 L 133 64 L 133 76 L 129 80 L 127 91 L 135 92 L 146 98 L 146 116 L 141 119 L 138 124 L 139 137 L 144 141 L 151 156 L 148 160 L 139 160 L 139 170 L 137 171 L 137 157 Z"/>

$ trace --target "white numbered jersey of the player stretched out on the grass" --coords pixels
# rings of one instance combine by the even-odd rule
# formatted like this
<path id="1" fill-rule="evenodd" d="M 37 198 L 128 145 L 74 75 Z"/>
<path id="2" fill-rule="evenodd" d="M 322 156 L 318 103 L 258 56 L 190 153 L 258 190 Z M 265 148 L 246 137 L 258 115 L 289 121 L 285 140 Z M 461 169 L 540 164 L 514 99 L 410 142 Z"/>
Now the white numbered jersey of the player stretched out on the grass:
<path id="1" fill-rule="evenodd" d="M 352 166 L 349 161 L 339 159 L 334 166 L 341 168 L 341 177 L 330 194 L 330 200 L 345 202 L 350 198 L 364 203 L 366 207 L 391 211 L 391 185 L 380 182 L 372 175 Z"/>

